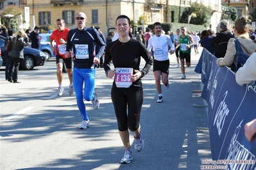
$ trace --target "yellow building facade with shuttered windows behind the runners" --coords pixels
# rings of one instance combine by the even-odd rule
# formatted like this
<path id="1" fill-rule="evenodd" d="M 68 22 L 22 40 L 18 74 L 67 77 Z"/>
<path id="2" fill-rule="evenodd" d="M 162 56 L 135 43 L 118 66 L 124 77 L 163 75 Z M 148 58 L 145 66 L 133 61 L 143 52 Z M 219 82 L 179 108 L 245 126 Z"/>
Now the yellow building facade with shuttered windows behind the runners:
<path id="1" fill-rule="evenodd" d="M 58 18 L 63 18 L 66 26 L 73 29 L 76 27 L 76 13 L 85 12 L 88 18 L 86 26 L 99 26 L 107 35 L 108 28 L 115 27 L 115 19 L 119 15 L 127 15 L 135 24 L 142 16 L 145 24 L 167 22 L 167 6 L 189 7 L 194 2 L 203 3 L 212 9 L 211 27 L 215 31 L 221 19 L 221 0 L 6 0 L 3 8 L 10 3 L 22 8 L 27 6 L 30 8 L 30 23 L 34 15 L 36 26 L 50 26 L 50 29 L 55 29 Z"/>

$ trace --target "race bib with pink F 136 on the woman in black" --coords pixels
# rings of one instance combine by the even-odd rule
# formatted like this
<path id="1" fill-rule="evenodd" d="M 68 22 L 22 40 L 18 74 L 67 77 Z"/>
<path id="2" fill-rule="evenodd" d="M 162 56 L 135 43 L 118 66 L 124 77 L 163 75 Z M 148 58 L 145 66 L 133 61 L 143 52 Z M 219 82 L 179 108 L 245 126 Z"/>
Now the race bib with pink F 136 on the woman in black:
<path id="1" fill-rule="evenodd" d="M 129 88 L 132 85 L 130 76 L 132 68 L 115 68 L 115 84 L 117 88 Z"/>

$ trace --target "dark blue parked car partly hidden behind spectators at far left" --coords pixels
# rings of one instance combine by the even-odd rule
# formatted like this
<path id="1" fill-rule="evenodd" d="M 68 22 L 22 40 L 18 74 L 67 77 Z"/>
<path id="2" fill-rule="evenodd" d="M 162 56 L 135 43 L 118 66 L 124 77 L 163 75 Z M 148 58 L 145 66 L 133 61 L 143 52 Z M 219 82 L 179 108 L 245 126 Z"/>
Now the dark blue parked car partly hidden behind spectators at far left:
<path id="1" fill-rule="evenodd" d="M 4 58 L 4 36 L 0 36 L 0 48 L 1 48 L 1 55 L 3 58 L 3 66 L 6 64 L 6 59 Z M 24 47 L 24 59 L 21 60 L 20 68 L 22 70 L 32 70 L 34 66 L 43 66 L 46 62 L 46 55 L 44 52 L 36 49 L 31 49 L 28 47 Z"/>

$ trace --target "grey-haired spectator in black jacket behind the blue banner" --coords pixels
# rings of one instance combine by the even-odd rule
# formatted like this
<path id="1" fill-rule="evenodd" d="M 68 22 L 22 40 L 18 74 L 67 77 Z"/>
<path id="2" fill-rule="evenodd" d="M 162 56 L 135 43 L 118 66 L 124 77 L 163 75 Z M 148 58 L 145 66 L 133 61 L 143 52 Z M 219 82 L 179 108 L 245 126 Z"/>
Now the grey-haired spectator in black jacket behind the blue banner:
<path id="1" fill-rule="evenodd" d="M 228 20 L 221 20 L 221 22 L 219 22 L 219 28 L 221 29 L 221 32 L 212 38 L 210 43 L 215 45 L 216 58 L 224 58 L 226 49 L 228 47 L 228 40 L 233 38 L 234 35 L 232 35 L 232 33 L 228 30 Z"/>

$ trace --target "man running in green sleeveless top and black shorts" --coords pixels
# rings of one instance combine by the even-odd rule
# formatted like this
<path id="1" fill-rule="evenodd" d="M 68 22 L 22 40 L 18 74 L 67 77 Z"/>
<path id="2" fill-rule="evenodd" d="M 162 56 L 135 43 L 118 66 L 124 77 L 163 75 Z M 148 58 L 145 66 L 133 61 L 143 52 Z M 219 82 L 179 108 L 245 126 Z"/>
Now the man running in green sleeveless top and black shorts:
<path id="1" fill-rule="evenodd" d="M 182 70 L 182 79 L 186 79 L 184 62 L 186 61 L 187 66 L 191 66 L 191 47 L 194 45 L 194 40 L 191 35 L 187 34 L 186 27 L 181 27 L 180 30 L 182 31 L 182 35 L 178 37 L 178 44 L 175 47 L 175 51 L 180 47 L 180 69 Z"/>

